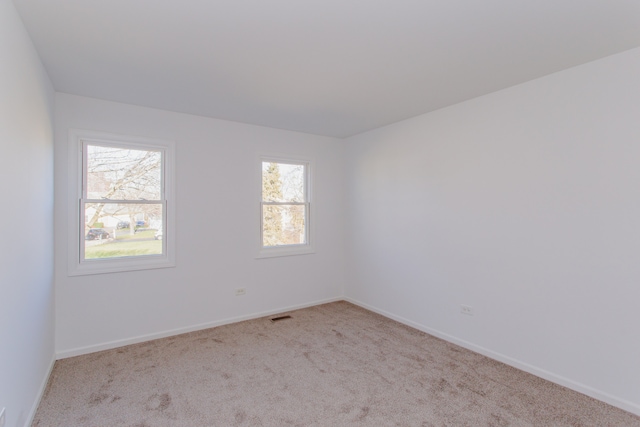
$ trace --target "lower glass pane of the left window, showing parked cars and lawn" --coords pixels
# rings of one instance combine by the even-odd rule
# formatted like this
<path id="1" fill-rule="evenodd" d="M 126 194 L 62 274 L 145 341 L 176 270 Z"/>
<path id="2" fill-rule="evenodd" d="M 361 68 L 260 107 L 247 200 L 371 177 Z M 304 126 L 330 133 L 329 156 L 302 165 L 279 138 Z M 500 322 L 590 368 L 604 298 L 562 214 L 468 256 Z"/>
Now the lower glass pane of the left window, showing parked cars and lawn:
<path id="1" fill-rule="evenodd" d="M 161 203 L 87 203 L 84 218 L 85 259 L 162 255 Z"/>

